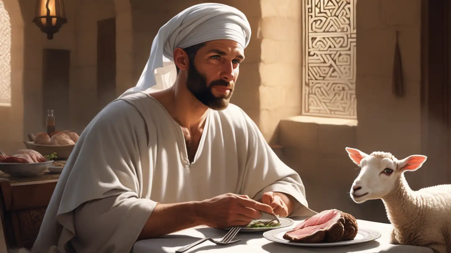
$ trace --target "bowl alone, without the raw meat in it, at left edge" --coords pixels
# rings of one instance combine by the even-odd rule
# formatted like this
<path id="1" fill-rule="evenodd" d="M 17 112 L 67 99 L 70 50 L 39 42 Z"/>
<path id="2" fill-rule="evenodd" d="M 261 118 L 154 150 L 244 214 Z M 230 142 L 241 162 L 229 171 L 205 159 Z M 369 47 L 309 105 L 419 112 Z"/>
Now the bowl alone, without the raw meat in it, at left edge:
<path id="1" fill-rule="evenodd" d="M 0 163 L 0 171 L 17 178 L 32 178 L 41 175 L 51 164 L 53 160 L 47 160 L 43 163 Z"/>

